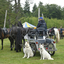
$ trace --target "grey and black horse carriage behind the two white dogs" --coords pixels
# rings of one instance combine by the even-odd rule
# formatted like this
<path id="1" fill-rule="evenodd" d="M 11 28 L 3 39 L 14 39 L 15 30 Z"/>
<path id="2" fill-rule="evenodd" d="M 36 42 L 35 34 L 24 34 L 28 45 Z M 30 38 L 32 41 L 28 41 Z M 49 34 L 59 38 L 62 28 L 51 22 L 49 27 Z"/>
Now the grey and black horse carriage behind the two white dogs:
<path id="1" fill-rule="evenodd" d="M 29 41 L 29 44 L 32 48 L 32 51 L 34 52 L 34 55 L 36 54 L 37 51 L 40 50 L 39 44 L 44 44 L 44 48 L 48 51 L 50 55 L 54 55 L 56 49 L 56 43 L 54 39 L 47 38 L 47 35 L 45 35 L 45 39 L 43 39 L 43 34 L 44 34 L 44 29 L 39 28 L 37 29 L 38 31 L 35 32 L 34 30 L 30 30 L 28 32 L 28 38 L 27 40 Z M 24 49 L 24 46 L 23 46 Z"/>

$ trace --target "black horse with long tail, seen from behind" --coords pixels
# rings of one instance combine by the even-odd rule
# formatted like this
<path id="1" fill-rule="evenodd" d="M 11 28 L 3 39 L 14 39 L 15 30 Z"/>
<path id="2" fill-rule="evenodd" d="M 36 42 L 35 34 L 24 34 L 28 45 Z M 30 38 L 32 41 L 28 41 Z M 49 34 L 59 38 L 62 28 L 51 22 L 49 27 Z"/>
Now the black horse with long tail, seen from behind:
<path id="1" fill-rule="evenodd" d="M 13 37 L 13 41 L 15 40 L 15 50 L 16 52 L 21 51 L 22 40 L 25 43 L 24 35 L 26 30 L 23 28 L 21 22 L 18 22 L 18 26 L 13 26 L 10 30 L 10 35 Z M 14 42 L 13 42 L 14 43 Z M 11 44 L 11 50 L 13 50 L 13 44 Z"/>

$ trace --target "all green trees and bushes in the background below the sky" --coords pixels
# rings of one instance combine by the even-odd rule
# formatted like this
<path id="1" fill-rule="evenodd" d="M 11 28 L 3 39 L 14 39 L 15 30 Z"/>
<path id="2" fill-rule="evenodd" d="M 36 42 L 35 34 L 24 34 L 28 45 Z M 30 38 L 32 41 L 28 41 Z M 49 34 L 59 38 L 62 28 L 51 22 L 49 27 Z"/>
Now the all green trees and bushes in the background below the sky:
<path id="1" fill-rule="evenodd" d="M 22 8 L 20 0 L 14 5 L 11 2 L 16 0 L 0 0 L 0 27 L 4 25 L 5 11 L 7 10 L 6 27 L 11 27 L 12 24 L 16 24 L 19 20 L 23 22 L 27 21 L 35 26 L 38 23 L 38 8 L 40 8 L 40 16 L 44 15 L 44 19 L 48 28 L 61 25 L 64 27 L 64 7 L 61 8 L 56 4 L 46 4 L 39 2 L 38 6 L 34 4 L 32 12 L 30 11 L 29 0 L 25 1 L 25 6 Z M 48 23 L 49 22 L 49 23 Z"/>

